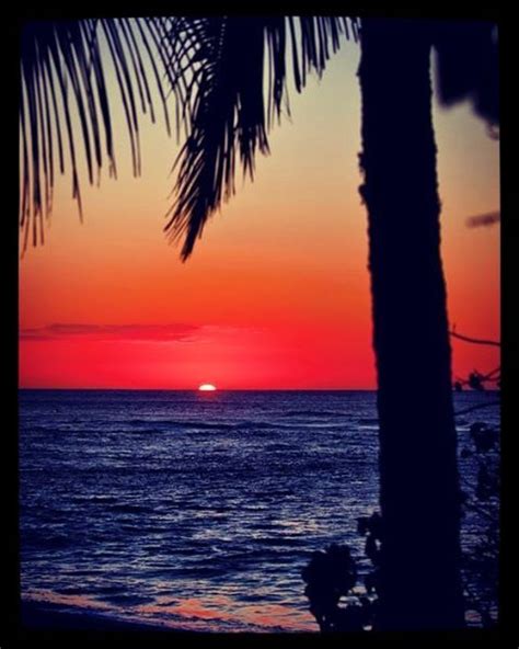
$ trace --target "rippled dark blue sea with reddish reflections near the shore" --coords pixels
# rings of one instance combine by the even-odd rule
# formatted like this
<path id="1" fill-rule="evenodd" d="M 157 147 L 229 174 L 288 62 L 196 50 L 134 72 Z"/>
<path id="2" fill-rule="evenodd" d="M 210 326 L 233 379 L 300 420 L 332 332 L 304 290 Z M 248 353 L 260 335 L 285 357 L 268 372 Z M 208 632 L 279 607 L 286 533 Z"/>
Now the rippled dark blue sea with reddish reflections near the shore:
<path id="1" fill-rule="evenodd" d="M 199 630 L 316 630 L 310 554 L 348 543 L 369 568 L 356 519 L 378 505 L 376 418 L 364 391 L 21 390 L 22 597 Z M 498 409 L 459 420 L 460 448 L 475 420 L 498 424 Z M 475 460 L 461 466 L 472 480 Z M 465 517 L 465 551 L 482 530 Z"/>

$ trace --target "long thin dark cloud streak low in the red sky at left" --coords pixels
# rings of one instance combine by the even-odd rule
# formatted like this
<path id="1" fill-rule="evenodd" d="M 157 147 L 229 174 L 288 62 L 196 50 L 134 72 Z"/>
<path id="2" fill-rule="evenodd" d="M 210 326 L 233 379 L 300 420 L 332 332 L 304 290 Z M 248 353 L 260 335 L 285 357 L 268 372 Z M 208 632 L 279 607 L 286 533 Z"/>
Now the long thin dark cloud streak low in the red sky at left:
<path id="1" fill-rule="evenodd" d="M 126 340 L 189 342 L 200 331 L 199 324 L 81 324 L 55 322 L 46 327 L 21 329 L 20 340 Z"/>

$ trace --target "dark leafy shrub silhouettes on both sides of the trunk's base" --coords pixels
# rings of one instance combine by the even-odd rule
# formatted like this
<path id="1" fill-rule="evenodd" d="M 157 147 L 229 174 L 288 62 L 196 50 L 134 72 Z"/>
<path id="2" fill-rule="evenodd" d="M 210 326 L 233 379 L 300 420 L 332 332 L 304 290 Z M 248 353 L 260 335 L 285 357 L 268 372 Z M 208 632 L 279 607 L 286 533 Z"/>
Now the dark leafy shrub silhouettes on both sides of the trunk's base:
<path id="1" fill-rule="evenodd" d="M 473 448 L 465 446 L 461 457 L 475 458 L 474 482 L 466 482 L 460 494 L 463 513 L 475 512 L 485 527 L 480 540 L 462 557 L 465 613 L 475 612 L 483 627 L 497 622 L 498 549 L 499 549 L 499 429 L 484 422 L 469 428 Z M 321 631 L 360 631 L 377 628 L 380 565 L 383 544 L 382 517 L 378 512 L 357 519 L 357 532 L 366 536 L 365 554 L 373 569 L 358 585 L 358 569 L 349 546 L 332 544 L 324 551 L 313 553 L 302 570 L 307 582 L 304 594 L 310 612 Z"/>

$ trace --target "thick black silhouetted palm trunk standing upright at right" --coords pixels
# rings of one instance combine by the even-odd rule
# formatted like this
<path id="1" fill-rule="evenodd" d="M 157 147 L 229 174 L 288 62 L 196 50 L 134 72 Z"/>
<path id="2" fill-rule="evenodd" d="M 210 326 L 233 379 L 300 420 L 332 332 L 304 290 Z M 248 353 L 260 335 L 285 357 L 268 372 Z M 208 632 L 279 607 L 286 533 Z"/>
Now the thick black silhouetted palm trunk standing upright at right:
<path id="1" fill-rule="evenodd" d="M 362 21 L 365 184 L 383 521 L 378 628 L 463 626 L 451 353 L 428 23 Z"/>

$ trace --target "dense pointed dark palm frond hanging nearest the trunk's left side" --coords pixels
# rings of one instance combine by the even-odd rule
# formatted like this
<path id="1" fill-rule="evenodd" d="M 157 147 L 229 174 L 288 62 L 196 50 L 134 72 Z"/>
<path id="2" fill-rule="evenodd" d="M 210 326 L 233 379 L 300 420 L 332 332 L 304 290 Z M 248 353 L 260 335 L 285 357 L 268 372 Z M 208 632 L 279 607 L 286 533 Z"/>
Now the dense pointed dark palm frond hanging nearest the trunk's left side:
<path id="1" fill-rule="evenodd" d="M 165 33 L 186 140 L 164 229 L 172 241 L 184 237 L 185 261 L 207 219 L 234 193 L 237 157 L 253 179 L 256 150 L 269 151 L 273 117 L 279 118 L 284 101 L 288 105 L 287 43 L 300 92 L 310 70 L 322 73 L 343 36 L 357 38 L 358 23 L 335 16 L 181 16 L 169 21 Z"/>

